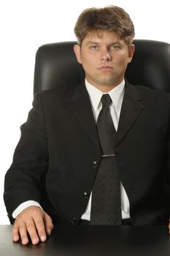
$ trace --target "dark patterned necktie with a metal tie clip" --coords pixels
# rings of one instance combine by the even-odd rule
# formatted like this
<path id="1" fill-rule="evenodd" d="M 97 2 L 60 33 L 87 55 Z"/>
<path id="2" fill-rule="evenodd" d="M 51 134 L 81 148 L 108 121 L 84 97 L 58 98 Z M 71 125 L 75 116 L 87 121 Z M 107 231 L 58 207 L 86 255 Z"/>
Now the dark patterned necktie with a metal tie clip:
<path id="1" fill-rule="evenodd" d="M 116 130 L 112 123 L 109 94 L 101 97 L 97 130 L 101 162 L 93 184 L 90 225 L 121 225 L 120 178 L 115 162 Z"/>

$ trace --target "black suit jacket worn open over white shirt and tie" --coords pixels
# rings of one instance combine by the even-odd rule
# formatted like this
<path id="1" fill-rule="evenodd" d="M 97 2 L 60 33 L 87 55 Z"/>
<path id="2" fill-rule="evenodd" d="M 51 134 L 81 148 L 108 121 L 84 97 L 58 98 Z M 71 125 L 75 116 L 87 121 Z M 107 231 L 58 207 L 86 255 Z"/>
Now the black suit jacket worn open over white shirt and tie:
<path id="1" fill-rule="evenodd" d="M 169 103 L 169 94 L 125 83 L 115 157 L 134 225 L 169 222 Z M 36 94 L 5 177 L 9 217 L 36 200 L 54 222 L 77 224 L 100 157 L 84 83 Z"/>

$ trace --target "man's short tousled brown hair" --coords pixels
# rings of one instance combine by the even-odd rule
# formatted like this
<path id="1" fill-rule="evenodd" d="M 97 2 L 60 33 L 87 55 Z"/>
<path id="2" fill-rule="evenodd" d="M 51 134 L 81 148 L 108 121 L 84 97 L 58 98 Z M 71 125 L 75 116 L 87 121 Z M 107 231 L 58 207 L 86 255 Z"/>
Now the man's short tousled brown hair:
<path id="1" fill-rule="evenodd" d="M 120 7 L 109 6 L 104 8 L 89 8 L 80 14 L 74 27 L 78 44 L 90 32 L 109 31 L 115 32 L 127 45 L 134 39 L 134 24 L 128 13 Z"/>

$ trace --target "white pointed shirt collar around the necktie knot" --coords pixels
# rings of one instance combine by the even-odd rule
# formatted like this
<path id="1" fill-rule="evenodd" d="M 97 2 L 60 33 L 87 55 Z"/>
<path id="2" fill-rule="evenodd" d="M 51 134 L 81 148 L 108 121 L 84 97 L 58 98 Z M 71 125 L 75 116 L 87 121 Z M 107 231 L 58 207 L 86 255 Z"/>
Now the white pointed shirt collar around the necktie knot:
<path id="1" fill-rule="evenodd" d="M 97 108 L 101 105 L 101 96 L 104 94 L 103 91 L 98 90 L 95 86 L 92 86 L 88 81 L 85 79 L 85 86 L 88 90 L 88 94 L 90 96 L 90 102 L 92 105 L 93 110 L 97 110 Z M 125 80 L 123 79 L 122 83 L 116 86 L 114 89 L 109 91 L 107 94 L 112 99 L 113 105 L 115 106 L 116 110 L 120 110 L 123 96 L 125 91 Z"/>

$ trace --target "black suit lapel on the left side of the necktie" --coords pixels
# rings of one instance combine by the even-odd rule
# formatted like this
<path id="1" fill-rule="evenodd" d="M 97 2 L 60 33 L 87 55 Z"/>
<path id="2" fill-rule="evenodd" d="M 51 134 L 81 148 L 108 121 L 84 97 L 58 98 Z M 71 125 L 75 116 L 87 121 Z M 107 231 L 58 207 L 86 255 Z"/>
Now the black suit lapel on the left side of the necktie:
<path id="1" fill-rule="evenodd" d="M 82 124 L 82 127 L 84 127 L 85 131 L 99 148 L 96 123 L 94 120 L 88 91 L 85 88 L 85 83 L 80 83 L 80 85 L 75 89 L 70 101 L 70 108 Z"/>

